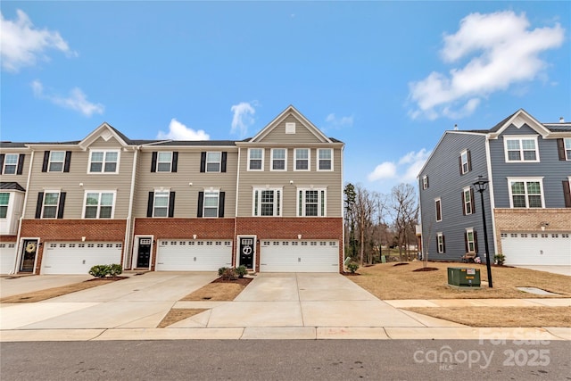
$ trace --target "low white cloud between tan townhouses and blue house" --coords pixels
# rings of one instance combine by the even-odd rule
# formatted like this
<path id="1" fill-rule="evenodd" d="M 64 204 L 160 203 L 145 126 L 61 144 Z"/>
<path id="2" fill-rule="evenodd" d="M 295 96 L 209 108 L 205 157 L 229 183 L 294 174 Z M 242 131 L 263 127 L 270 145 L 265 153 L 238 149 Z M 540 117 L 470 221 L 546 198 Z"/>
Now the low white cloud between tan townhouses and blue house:
<path id="1" fill-rule="evenodd" d="M 391 180 L 395 184 L 413 183 L 429 155 L 430 153 L 423 148 L 418 152 L 405 154 L 396 163 L 382 162 L 368 174 L 367 178 L 369 181 Z"/>

